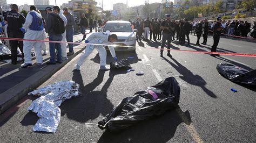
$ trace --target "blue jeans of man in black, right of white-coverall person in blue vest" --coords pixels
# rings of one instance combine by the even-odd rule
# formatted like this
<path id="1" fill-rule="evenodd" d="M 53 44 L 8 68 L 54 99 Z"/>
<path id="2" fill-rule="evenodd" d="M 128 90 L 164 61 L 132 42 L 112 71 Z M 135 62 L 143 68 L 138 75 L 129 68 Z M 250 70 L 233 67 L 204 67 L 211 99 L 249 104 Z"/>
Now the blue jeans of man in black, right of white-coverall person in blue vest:
<path id="1" fill-rule="evenodd" d="M 62 34 L 50 34 L 49 35 L 49 40 L 50 41 L 62 41 Z M 62 61 L 62 47 L 60 46 L 60 43 L 54 43 L 54 42 L 49 42 L 49 48 L 50 48 L 50 56 L 51 59 L 50 61 L 52 63 L 56 63 L 57 61 Z M 57 58 L 56 58 L 56 53 L 55 49 L 57 49 Z"/>

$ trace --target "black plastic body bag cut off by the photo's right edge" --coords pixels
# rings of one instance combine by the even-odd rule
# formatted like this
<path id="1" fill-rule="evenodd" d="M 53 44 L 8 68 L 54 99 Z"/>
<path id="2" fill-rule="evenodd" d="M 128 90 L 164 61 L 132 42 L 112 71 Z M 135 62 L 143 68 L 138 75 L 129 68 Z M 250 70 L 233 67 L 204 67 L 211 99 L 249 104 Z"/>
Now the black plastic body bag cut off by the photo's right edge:
<path id="1" fill-rule="evenodd" d="M 228 63 L 220 63 L 217 70 L 232 82 L 256 85 L 256 69 L 248 71 Z"/>

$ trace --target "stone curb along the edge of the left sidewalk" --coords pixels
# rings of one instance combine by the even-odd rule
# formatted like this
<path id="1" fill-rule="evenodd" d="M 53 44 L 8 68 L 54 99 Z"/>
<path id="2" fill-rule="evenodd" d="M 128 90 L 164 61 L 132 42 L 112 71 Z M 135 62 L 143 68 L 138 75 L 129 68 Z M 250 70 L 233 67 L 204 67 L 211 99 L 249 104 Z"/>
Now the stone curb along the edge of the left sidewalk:
<path id="1" fill-rule="evenodd" d="M 80 45 L 77 48 L 80 49 L 72 56 L 69 56 L 68 60 L 63 61 L 59 65 L 44 66 L 45 68 L 38 71 L 36 74 L 33 74 L 29 78 L 26 78 L 26 80 L 0 94 L 0 115 L 12 105 L 16 104 L 20 99 L 28 95 L 28 92 L 35 90 L 37 87 L 39 87 L 39 85 L 49 80 L 53 74 L 64 67 L 69 61 L 75 58 L 75 56 L 81 53 L 85 49 L 85 46 Z"/>

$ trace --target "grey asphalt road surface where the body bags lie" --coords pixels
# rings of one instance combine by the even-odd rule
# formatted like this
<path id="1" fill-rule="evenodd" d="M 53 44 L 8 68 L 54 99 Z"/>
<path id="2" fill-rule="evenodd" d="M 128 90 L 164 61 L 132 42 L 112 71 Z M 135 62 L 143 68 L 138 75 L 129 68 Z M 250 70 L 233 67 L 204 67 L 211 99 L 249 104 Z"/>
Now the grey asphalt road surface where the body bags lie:
<path id="1" fill-rule="evenodd" d="M 191 46 L 172 42 L 174 49 L 210 51 L 208 45 L 196 46 L 196 37 L 190 35 Z M 203 41 L 203 38 L 201 38 Z M 26 109 L 35 97 L 25 97 L 21 102 L 0 116 L 1 141 L 84 141 L 84 142 L 181 142 L 222 141 L 255 142 L 255 87 L 239 85 L 226 80 L 216 70 L 218 63 L 232 63 L 246 68 L 256 68 L 256 58 L 220 56 L 171 51 L 172 58 L 159 55 L 160 42 L 138 42 L 136 53 L 118 52 L 118 59 L 129 59 L 136 71 L 99 71 L 97 51 L 89 56 L 81 71 L 73 65 L 79 55 L 53 75 L 44 85 L 62 80 L 80 84 L 83 95 L 68 99 L 61 106 L 60 123 L 56 133 L 33 132 L 38 117 Z M 255 43 L 238 39 L 220 39 L 220 52 L 256 53 Z M 110 54 L 107 64 L 112 61 Z M 143 71 L 143 76 L 137 76 Z M 123 98 L 173 76 L 180 85 L 179 109 L 143 121 L 131 128 L 111 133 L 100 130 L 98 123 Z M 235 88 L 234 93 L 230 89 Z"/>

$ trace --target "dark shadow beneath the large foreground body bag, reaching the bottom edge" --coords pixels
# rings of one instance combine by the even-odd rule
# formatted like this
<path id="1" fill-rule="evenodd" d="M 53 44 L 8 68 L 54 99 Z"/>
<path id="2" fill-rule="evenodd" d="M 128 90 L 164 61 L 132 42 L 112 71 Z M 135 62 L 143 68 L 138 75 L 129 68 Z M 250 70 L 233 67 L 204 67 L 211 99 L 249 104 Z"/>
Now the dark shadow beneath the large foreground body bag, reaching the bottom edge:
<path id="1" fill-rule="evenodd" d="M 183 113 L 191 123 L 190 113 Z M 174 137 L 177 127 L 183 122 L 179 113 L 171 110 L 162 116 L 141 121 L 121 132 L 112 133 L 106 130 L 98 142 L 167 142 Z"/>

